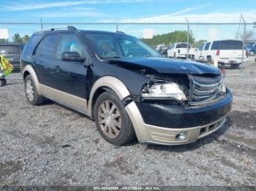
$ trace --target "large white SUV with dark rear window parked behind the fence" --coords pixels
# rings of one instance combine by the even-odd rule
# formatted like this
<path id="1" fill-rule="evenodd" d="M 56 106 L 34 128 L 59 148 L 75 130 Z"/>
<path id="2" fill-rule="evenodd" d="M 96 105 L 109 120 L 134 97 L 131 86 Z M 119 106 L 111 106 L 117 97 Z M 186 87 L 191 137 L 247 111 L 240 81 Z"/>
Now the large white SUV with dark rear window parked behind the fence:
<path id="1" fill-rule="evenodd" d="M 195 51 L 195 60 L 213 63 L 214 58 L 218 57 L 218 63 L 228 64 L 231 69 L 238 69 L 241 64 L 243 52 L 243 42 L 238 40 L 219 40 L 205 42 Z M 244 50 L 244 61 L 248 58 Z"/>

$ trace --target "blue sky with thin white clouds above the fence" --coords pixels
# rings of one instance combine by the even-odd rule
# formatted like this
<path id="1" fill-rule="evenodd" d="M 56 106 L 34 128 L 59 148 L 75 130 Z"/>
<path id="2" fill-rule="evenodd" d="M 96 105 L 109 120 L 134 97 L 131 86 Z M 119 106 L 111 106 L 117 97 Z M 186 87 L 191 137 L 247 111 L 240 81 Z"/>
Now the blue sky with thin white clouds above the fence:
<path id="1" fill-rule="evenodd" d="M 246 23 L 256 22 L 255 0 L 1 0 L 0 23 L 239 23 L 240 15 Z M 44 25 L 49 28 L 56 25 Z M 115 31 L 115 25 L 75 25 L 80 29 Z M 39 25 L 0 24 L 8 28 L 10 39 L 15 33 L 33 34 Z M 119 31 L 143 37 L 143 30 L 165 34 L 187 30 L 187 25 L 118 25 Z M 244 26 L 191 25 L 196 40 L 234 39 Z M 246 30 L 254 30 L 247 25 Z M 167 43 L 167 42 L 165 42 Z"/>

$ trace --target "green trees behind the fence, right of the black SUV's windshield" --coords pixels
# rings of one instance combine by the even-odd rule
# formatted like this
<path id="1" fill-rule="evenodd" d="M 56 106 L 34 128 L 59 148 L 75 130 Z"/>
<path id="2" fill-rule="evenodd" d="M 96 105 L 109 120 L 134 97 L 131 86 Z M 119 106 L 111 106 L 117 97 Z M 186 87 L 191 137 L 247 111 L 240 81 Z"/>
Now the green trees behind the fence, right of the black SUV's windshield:
<path id="1" fill-rule="evenodd" d="M 141 39 L 151 47 L 156 47 L 158 44 L 169 45 L 174 42 L 187 42 L 187 31 L 174 31 L 168 34 L 154 35 L 153 39 Z M 192 33 L 189 33 L 189 43 L 194 43 L 195 39 Z"/>

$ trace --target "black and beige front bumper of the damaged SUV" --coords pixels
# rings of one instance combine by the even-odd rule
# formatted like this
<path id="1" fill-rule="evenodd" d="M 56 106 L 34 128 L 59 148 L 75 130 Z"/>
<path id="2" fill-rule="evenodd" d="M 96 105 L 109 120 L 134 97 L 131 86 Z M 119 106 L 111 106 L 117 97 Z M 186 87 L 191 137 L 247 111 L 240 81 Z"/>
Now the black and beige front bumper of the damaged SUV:
<path id="1" fill-rule="evenodd" d="M 231 106 L 232 95 L 227 90 L 227 95 L 221 101 L 201 108 L 187 109 L 187 111 L 174 109 L 170 112 L 170 106 L 167 106 L 161 108 L 162 114 L 157 113 L 159 110 L 151 109 L 154 116 L 145 117 L 143 111 L 134 101 L 128 104 L 125 109 L 132 120 L 138 141 L 149 144 L 178 145 L 197 141 L 197 139 L 203 138 L 222 127 Z M 164 116 L 165 112 L 166 115 Z M 161 115 L 162 117 L 160 117 Z M 176 117 L 173 117 L 174 115 Z M 147 119 L 151 118 L 156 121 L 154 125 L 146 123 Z M 160 124 L 161 121 L 165 121 L 165 124 L 156 125 Z M 187 134 L 185 139 L 178 139 L 181 133 Z"/>

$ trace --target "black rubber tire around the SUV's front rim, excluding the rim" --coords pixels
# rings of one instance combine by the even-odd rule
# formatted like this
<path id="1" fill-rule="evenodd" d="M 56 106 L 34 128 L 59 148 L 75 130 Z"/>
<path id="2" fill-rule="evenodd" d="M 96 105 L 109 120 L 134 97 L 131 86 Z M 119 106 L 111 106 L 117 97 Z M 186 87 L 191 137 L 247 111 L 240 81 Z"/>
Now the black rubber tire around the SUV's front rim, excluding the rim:
<path id="1" fill-rule="evenodd" d="M 113 104 L 116 104 L 116 107 L 118 108 L 120 115 L 121 115 L 121 131 L 118 134 L 116 138 L 110 139 L 108 136 L 103 133 L 102 128 L 99 125 L 98 120 L 98 109 L 100 104 L 102 104 L 103 101 L 112 101 Z M 132 139 L 135 138 L 135 132 L 132 127 L 132 122 L 129 119 L 129 116 L 127 112 L 124 109 L 124 106 L 122 105 L 121 101 L 117 97 L 115 93 L 105 92 L 99 95 L 99 98 L 97 98 L 97 101 L 94 106 L 94 120 L 97 125 L 97 129 L 99 130 L 100 135 L 108 141 L 110 144 L 115 145 L 122 145 L 127 144 L 129 141 L 132 141 Z"/>

